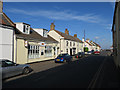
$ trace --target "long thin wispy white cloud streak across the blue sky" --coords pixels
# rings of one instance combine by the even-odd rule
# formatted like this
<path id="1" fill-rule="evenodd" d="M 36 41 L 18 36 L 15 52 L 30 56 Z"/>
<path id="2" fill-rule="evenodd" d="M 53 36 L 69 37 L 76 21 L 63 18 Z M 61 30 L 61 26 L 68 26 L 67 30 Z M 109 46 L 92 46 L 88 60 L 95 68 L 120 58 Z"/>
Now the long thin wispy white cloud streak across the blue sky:
<path id="1" fill-rule="evenodd" d="M 80 15 L 77 12 L 73 12 L 70 10 L 64 10 L 64 11 L 55 11 L 55 10 L 35 10 L 35 11 L 25 11 L 21 9 L 9 9 L 8 12 L 11 13 L 18 13 L 18 14 L 25 14 L 29 16 L 42 16 L 49 19 L 54 20 L 78 20 L 78 21 L 84 21 L 84 22 L 90 22 L 90 23 L 102 23 L 104 20 L 99 16 L 95 14 L 84 14 Z"/>

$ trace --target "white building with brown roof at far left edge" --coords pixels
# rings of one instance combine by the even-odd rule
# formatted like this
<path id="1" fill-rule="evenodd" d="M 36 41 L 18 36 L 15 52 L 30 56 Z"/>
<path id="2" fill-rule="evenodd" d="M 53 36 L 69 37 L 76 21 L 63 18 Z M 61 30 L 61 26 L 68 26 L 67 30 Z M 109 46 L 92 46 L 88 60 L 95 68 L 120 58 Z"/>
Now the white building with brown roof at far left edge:
<path id="1" fill-rule="evenodd" d="M 3 12 L 0 13 L 0 59 L 14 60 L 15 24 Z"/>

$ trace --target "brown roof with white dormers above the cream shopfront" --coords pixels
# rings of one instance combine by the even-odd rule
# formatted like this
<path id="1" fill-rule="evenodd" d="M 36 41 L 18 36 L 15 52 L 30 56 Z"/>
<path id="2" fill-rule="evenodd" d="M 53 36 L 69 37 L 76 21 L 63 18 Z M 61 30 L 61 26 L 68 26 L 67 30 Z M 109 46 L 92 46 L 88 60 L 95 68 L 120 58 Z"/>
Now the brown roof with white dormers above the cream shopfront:
<path id="1" fill-rule="evenodd" d="M 36 31 L 34 31 L 32 28 L 30 30 L 30 34 L 19 33 L 16 34 L 16 36 L 17 38 L 26 39 L 26 40 L 43 41 L 43 42 L 47 41 L 51 43 L 57 43 L 57 41 L 52 37 L 50 37 L 49 35 L 48 37 L 43 37 L 40 34 L 38 34 Z"/>

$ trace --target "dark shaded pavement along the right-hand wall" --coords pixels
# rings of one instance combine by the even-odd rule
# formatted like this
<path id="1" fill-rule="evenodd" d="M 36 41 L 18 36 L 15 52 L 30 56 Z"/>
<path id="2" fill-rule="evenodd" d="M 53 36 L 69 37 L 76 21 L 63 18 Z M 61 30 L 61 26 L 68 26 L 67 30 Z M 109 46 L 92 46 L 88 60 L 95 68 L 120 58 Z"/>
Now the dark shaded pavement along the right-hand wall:
<path id="1" fill-rule="evenodd" d="M 106 57 L 89 88 L 120 88 L 120 70 L 116 68 L 112 56 Z"/>

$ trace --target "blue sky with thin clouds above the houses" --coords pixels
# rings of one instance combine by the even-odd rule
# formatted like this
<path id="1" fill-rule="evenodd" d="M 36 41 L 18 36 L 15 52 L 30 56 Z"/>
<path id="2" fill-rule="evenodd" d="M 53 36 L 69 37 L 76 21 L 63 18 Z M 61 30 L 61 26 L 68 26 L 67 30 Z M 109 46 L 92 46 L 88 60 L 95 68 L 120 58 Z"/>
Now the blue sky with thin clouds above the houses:
<path id="1" fill-rule="evenodd" d="M 55 29 L 70 35 L 77 34 L 100 44 L 112 46 L 113 2 L 4 2 L 3 11 L 13 22 L 24 22 L 32 28 Z"/>

